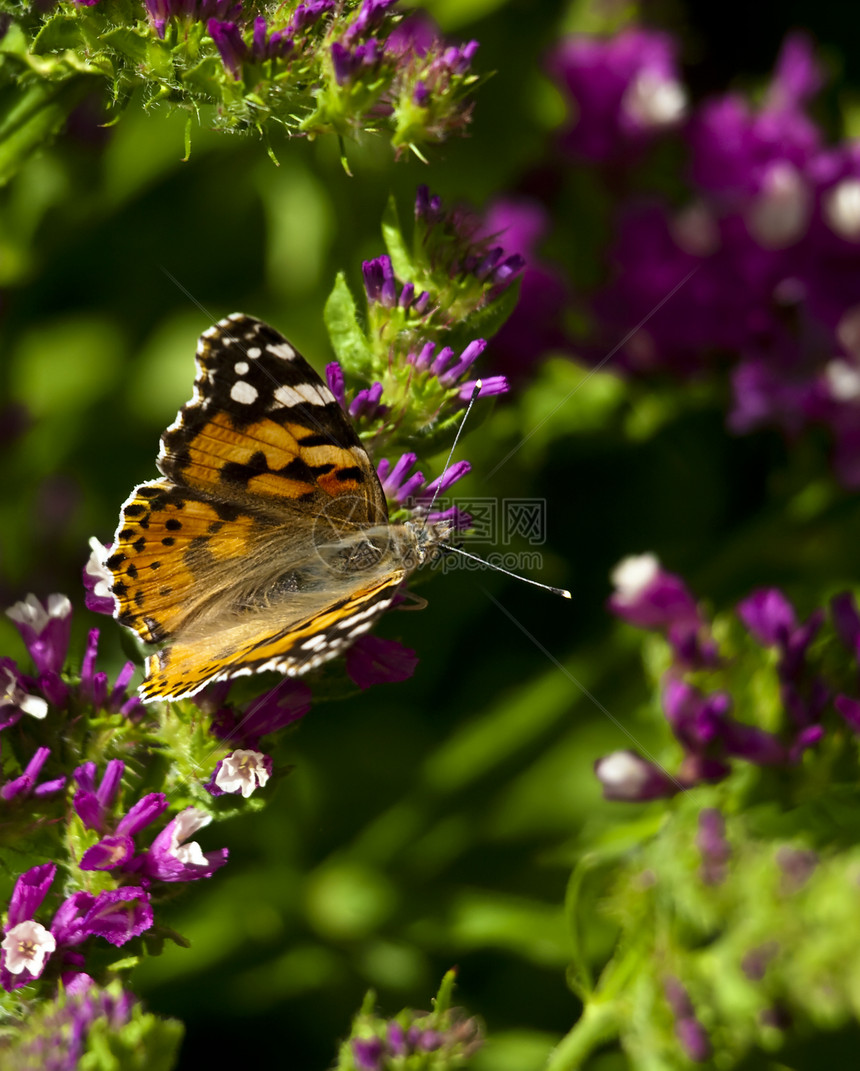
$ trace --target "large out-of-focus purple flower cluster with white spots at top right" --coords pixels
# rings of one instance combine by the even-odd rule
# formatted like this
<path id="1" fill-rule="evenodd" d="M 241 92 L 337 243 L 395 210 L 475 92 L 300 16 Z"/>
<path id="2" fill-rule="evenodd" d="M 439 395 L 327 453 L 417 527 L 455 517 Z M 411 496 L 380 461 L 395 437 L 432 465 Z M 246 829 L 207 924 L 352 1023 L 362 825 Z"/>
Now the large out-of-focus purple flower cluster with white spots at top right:
<path id="1" fill-rule="evenodd" d="M 828 144 L 810 117 L 824 79 L 804 36 L 786 40 L 755 105 L 728 92 L 689 106 L 678 50 L 666 33 L 628 28 L 572 37 L 549 58 L 571 101 L 564 163 L 555 154 L 524 183 L 532 198 L 500 203 L 488 226 L 516 235 L 518 215 L 557 208 L 560 169 L 599 168 L 612 270 L 580 298 L 590 327 L 574 337 L 561 269 L 535 260 L 533 240 L 520 246 L 524 300 L 501 335 L 502 367 L 575 349 L 595 363 L 612 352 L 610 368 L 639 377 L 727 371 L 734 432 L 823 426 L 839 479 L 858 487 L 860 152 Z M 661 157 L 665 197 L 640 167 L 658 139 L 675 149 Z"/>

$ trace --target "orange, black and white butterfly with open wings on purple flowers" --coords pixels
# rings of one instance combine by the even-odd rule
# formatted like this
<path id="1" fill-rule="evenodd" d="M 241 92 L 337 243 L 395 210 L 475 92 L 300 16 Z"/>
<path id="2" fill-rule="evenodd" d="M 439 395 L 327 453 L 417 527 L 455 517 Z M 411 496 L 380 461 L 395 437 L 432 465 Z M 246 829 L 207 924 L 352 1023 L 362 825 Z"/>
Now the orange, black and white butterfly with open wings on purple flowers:
<path id="1" fill-rule="evenodd" d="M 273 328 L 205 331 L 162 478 L 123 503 L 107 568 L 115 617 L 147 644 L 144 699 L 343 652 L 451 534 L 391 524 L 379 478 L 329 388 Z"/>

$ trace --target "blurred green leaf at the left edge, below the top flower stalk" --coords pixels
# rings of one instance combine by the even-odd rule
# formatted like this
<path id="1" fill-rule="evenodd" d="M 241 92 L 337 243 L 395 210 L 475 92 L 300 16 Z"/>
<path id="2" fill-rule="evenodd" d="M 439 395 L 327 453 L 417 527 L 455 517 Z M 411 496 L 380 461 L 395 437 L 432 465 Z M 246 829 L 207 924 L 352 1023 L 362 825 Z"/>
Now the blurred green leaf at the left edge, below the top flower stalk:
<path id="1" fill-rule="evenodd" d="M 34 81 L 0 99 L 0 185 L 48 141 L 94 85 L 81 75 L 66 81 Z"/>

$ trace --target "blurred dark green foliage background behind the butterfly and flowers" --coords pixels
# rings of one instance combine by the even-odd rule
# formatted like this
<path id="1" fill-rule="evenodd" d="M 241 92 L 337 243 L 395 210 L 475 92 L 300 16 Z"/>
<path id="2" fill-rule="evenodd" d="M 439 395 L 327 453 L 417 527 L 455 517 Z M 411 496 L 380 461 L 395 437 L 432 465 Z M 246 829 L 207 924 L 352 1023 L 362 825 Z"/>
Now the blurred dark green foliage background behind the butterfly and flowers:
<path id="1" fill-rule="evenodd" d="M 275 167 L 255 139 L 205 133 L 183 163 L 181 116 L 133 106 L 104 130 L 93 107 L 0 192 L 0 595 L 66 592 L 77 649 L 100 625 L 115 669 L 119 629 L 82 608 L 87 540 L 108 540 L 131 487 L 155 473 L 200 331 L 241 310 L 321 369 L 326 296 L 342 269 L 358 290 L 361 260 L 382 252 L 390 191 L 405 215 L 421 182 L 481 208 L 517 188 L 562 119 L 542 57 L 586 25 L 584 5 L 426 6 L 478 39 L 480 70 L 496 72 L 469 136 L 429 167 L 395 165 L 368 141 L 348 147 L 350 178 L 326 139 L 275 145 Z M 682 35 L 696 95 L 764 76 L 802 26 L 853 107 L 860 58 L 843 48 L 860 20 L 844 5 L 763 3 L 752 19 L 739 3 L 644 9 Z M 582 233 L 574 222 L 555 241 L 582 245 L 593 277 L 588 220 L 584 203 Z M 728 436 L 716 390 L 592 377 L 486 479 L 583 375 L 560 358 L 533 369 L 463 446 L 464 496 L 546 499 L 541 578 L 573 602 L 455 572 L 422 584 L 424 613 L 388 615 L 378 631 L 418 651 L 414 677 L 315 706 L 272 804 L 202 839 L 229 845 L 229 866 L 163 915 L 192 947 L 166 947 L 137 987 L 185 1022 L 182 1067 L 325 1068 L 367 987 L 389 1012 L 426 1006 L 457 964 L 458 997 L 492 1039 L 476 1067 L 540 1068 L 578 1012 L 562 915 L 577 840 L 618 808 L 601 801 L 591 764 L 628 744 L 583 689 L 648 743 L 637 649 L 604 610 L 609 570 L 654 550 L 716 606 L 781 583 L 801 612 L 856 579 L 856 508 L 826 477 L 824 447 Z M 442 463 L 422 461 L 426 472 Z M 0 630 L 4 653 L 22 658 L 11 624 Z"/>

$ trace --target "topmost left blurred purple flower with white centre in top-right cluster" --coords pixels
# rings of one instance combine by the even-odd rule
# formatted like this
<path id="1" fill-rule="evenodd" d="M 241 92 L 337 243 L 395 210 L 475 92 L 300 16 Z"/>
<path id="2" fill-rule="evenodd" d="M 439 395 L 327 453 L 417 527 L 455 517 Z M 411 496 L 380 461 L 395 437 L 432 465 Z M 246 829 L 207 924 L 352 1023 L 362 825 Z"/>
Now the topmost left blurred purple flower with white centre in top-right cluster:
<path id="1" fill-rule="evenodd" d="M 684 116 L 672 37 L 631 28 L 614 37 L 575 36 L 549 60 L 550 74 L 570 93 L 575 117 L 563 148 L 594 163 L 630 157 L 632 150 Z"/>

